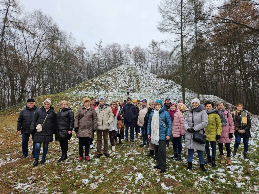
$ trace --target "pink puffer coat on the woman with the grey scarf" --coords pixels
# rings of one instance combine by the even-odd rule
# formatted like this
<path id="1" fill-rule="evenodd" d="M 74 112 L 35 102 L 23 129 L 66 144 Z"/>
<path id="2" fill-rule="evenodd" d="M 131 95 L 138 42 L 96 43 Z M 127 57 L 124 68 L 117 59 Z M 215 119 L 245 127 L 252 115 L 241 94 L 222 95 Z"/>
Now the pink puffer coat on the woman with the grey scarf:
<path id="1" fill-rule="evenodd" d="M 228 138 L 228 134 L 235 133 L 234 121 L 228 109 L 224 111 L 224 115 L 227 120 L 227 126 L 222 126 L 222 131 L 218 143 L 227 144 L 232 141 L 232 138 Z"/>

